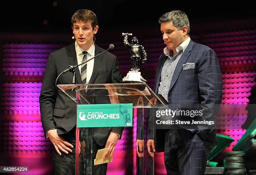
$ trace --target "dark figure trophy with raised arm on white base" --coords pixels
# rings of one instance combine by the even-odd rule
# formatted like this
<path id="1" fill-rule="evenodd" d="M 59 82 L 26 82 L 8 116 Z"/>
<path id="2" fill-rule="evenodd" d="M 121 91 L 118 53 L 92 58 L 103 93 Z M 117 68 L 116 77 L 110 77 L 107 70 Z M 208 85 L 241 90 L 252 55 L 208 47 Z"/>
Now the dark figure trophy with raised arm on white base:
<path id="1" fill-rule="evenodd" d="M 128 42 L 128 36 L 132 36 L 132 33 L 122 33 L 124 36 L 123 43 L 126 47 L 129 48 L 131 52 L 131 62 L 132 68 L 131 71 L 127 73 L 127 75 L 123 78 L 123 82 L 127 83 L 145 83 L 146 80 L 141 76 L 141 72 L 139 72 L 141 54 L 143 56 L 142 63 L 145 63 L 147 60 L 147 53 L 143 46 L 138 43 L 138 39 L 136 37 L 132 38 L 132 42 Z"/>

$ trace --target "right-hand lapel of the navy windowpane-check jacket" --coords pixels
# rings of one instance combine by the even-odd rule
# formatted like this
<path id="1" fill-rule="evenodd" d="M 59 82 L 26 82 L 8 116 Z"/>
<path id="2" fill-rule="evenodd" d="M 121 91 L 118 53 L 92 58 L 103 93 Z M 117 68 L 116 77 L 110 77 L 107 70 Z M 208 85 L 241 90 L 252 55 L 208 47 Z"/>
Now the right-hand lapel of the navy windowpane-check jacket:
<path id="1" fill-rule="evenodd" d="M 192 40 L 190 40 L 187 48 L 182 53 L 182 56 L 179 58 L 179 61 L 178 61 L 177 65 L 176 65 L 176 68 L 175 68 L 173 76 L 172 76 L 172 81 L 171 81 L 171 84 L 170 84 L 170 87 L 169 87 L 169 92 L 172 89 L 172 87 L 174 86 L 175 82 L 177 81 L 177 79 L 179 77 L 179 74 L 182 71 L 182 65 L 184 63 L 186 63 L 187 58 L 190 55 L 190 51 L 192 51 L 193 45 L 194 45 L 194 42 Z"/>

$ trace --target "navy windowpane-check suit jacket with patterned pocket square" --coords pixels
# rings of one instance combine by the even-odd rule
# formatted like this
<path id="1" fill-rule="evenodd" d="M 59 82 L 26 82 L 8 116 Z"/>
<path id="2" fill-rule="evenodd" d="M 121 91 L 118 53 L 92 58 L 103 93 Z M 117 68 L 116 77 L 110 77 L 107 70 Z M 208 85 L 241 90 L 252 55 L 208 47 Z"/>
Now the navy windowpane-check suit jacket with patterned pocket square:
<path id="1" fill-rule="evenodd" d="M 157 62 L 154 84 L 154 92 L 156 94 L 158 94 L 159 91 L 161 71 L 166 58 L 167 56 L 162 54 Z M 185 63 L 195 63 L 195 68 L 183 70 L 182 65 Z M 216 53 L 211 48 L 194 43 L 191 40 L 185 51 L 183 51 L 172 76 L 168 94 L 169 104 L 188 106 L 200 104 L 205 109 L 212 109 L 212 106 L 220 104 L 221 99 L 222 78 Z M 202 119 L 215 119 L 215 112 L 203 115 Z M 194 125 L 192 127 L 193 128 L 188 129 L 192 133 L 198 132 L 202 139 L 208 139 L 212 142 L 215 141 L 215 129 L 205 128 L 202 127 L 202 125 Z M 151 133 L 152 131 L 149 131 L 149 137 L 152 137 Z M 160 140 L 163 141 L 164 134 L 158 134 L 158 132 L 156 132 L 155 137 L 160 137 Z"/>

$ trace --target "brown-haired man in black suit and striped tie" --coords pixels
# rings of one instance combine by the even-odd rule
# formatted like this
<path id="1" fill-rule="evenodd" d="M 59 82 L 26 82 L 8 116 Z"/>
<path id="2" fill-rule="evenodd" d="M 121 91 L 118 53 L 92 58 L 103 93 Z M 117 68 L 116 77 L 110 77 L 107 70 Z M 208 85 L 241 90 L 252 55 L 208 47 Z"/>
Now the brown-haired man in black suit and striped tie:
<path id="1" fill-rule="evenodd" d="M 55 86 L 57 76 L 69 65 L 78 65 L 105 51 L 93 38 L 97 33 L 97 16 L 91 10 L 77 10 L 72 16 L 76 41 L 50 54 L 39 97 L 44 134 L 53 144 L 55 174 L 75 173 L 76 104 Z M 76 69 L 77 84 L 120 83 L 122 81 L 116 56 L 106 52 Z M 57 84 L 71 84 L 72 73 L 59 77 Z M 93 157 L 97 150 L 107 148 L 105 156 L 113 155 L 123 127 L 93 128 Z M 63 154 L 64 152 L 64 154 Z M 93 162 L 92 162 L 93 163 Z M 106 174 L 107 164 L 92 166 L 92 174 Z"/>

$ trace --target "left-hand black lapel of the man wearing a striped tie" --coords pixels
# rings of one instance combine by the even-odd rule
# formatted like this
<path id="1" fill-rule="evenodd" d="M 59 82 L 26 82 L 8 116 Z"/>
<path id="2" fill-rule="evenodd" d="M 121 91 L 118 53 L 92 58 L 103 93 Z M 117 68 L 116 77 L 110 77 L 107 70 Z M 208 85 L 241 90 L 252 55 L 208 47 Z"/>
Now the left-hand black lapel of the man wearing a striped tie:
<path id="1" fill-rule="evenodd" d="M 67 55 L 69 57 L 70 65 L 72 66 L 77 65 L 77 53 L 76 53 L 74 43 L 67 46 Z M 82 84 L 82 79 L 81 79 L 80 71 L 78 67 L 75 69 L 75 73 L 76 73 L 77 84 Z"/>

